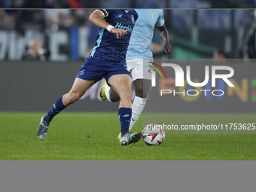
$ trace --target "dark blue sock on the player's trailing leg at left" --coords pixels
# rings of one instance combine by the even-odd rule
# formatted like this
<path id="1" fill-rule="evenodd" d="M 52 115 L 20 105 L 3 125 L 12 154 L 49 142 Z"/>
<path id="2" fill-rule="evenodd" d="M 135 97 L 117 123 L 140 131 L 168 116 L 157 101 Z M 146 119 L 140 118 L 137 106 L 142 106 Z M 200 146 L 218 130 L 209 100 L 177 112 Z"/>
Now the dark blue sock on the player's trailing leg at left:
<path id="1" fill-rule="evenodd" d="M 59 96 L 59 98 L 56 99 L 56 102 L 50 108 L 48 113 L 44 115 L 44 121 L 46 121 L 47 123 L 50 123 L 50 121 L 53 120 L 53 117 L 56 114 L 59 114 L 59 112 L 62 111 L 64 108 L 66 108 L 66 106 L 63 105 L 62 103 L 62 96 Z"/>

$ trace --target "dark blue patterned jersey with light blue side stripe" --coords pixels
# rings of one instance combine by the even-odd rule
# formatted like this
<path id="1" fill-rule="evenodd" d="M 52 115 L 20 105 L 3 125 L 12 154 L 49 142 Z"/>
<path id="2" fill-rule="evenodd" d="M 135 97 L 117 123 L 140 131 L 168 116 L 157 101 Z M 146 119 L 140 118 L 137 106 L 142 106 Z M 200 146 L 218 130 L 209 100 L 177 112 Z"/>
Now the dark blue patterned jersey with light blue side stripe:
<path id="1" fill-rule="evenodd" d="M 117 35 L 108 32 L 107 29 L 99 27 L 99 34 L 96 38 L 90 57 L 111 62 L 125 62 L 126 51 L 129 45 L 133 26 L 138 18 L 138 14 L 133 9 L 127 10 L 98 10 L 104 15 L 104 20 L 115 28 L 124 29 L 126 35 L 117 39 Z"/>

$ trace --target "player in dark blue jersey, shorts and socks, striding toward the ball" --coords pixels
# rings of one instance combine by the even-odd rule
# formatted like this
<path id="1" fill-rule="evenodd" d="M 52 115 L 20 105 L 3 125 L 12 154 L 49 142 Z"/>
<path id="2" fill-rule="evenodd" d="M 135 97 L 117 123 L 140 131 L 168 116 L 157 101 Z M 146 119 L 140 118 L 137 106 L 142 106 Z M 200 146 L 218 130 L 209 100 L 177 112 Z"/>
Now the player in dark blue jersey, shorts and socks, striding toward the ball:
<path id="1" fill-rule="evenodd" d="M 69 93 L 59 96 L 48 113 L 41 117 L 37 131 L 39 139 L 45 138 L 48 126 L 56 114 L 80 99 L 102 78 L 105 78 L 120 96 L 118 117 L 122 137 L 119 144 L 129 145 L 141 139 L 141 133 L 129 132 L 132 114 L 132 80 L 126 66 L 126 50 L 137 18 L 138 14 L 133 9 L 99 9 L 90 15 L 89 20 L 99 26 L 96 44 L 90 56 L 85 59 Z"/>

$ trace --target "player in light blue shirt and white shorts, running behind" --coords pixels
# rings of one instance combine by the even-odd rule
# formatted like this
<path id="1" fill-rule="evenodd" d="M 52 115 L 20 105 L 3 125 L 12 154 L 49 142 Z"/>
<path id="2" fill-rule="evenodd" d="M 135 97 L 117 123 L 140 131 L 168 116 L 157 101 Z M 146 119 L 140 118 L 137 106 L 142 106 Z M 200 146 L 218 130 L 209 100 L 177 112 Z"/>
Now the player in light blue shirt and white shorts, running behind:
<path id="1" fill-rule="evenodd" d="M 129 47 L 126 53 L 126 64 L 130 71 L 135 85 L 136 96 L 132 106 L 132 117 L 129 130 L 131 130 L 142 114 L 145 107 L 148 91 L 151 87 L 151 63 L 153 54 L 151 44 L 154 33 L 154 27 L 160 32 L 164 49 L 166 53 L 172 50 L 169 44 L 169 35 L 163 18 L 163 10 L 159 9 L 136 9 L 139 17 L 133 29 L 130 38 Z M 103 84 L 100 92 L 102 100 L 108 99 L 111 102 L 117 102 L 120 97 L 108 84 Z M 120 139 L 118 136 L 118 139 Z"/>

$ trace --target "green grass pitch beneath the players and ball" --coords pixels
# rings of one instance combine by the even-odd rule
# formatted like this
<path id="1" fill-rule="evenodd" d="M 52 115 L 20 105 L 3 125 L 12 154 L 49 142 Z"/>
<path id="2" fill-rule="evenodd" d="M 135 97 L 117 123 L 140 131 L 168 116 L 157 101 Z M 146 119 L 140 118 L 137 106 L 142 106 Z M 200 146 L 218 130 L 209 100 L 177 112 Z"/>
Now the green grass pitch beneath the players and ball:
<path id="1" fill-rule="evenodd" d="M 171 135 L 160 146 L 118 145 L 116 113 L 62 112 L 44 141 L 42 113 L 0 113 L 0 160 L 256 160 L 256 135 Z M 254 114 L 170 114 L 172 119 L 252 123 Z M 181 118 L 182 116 L 182 118 Z M 212 121 L 211 121 L 212 120 Z M 152 122 L 153 123 L 153 122 Z M 133 131 L 142 131 L 142 118 Z"/>

